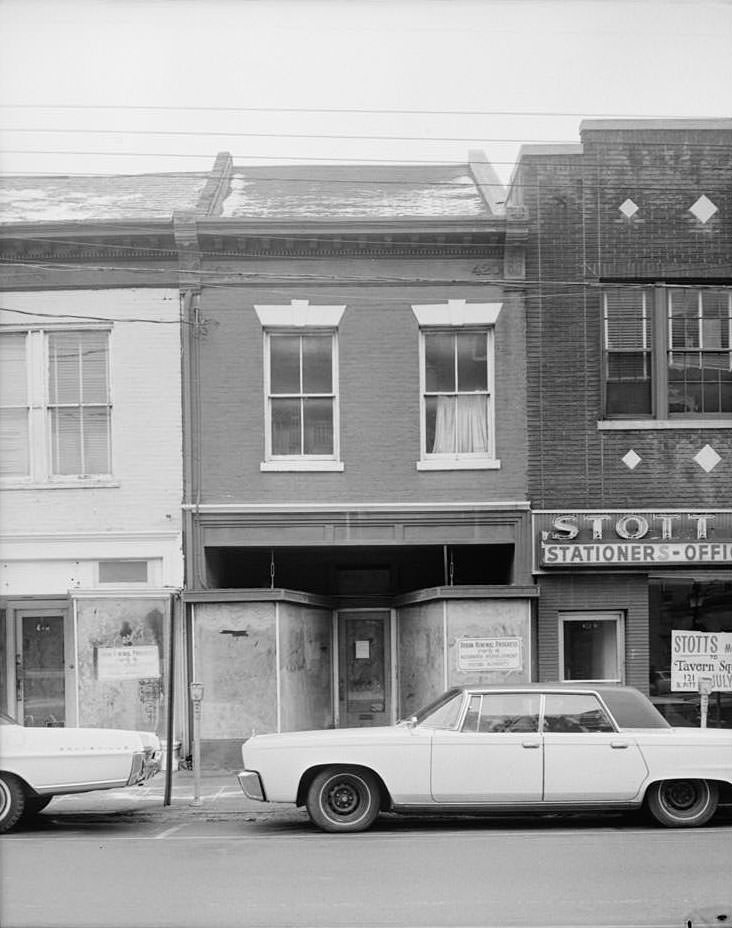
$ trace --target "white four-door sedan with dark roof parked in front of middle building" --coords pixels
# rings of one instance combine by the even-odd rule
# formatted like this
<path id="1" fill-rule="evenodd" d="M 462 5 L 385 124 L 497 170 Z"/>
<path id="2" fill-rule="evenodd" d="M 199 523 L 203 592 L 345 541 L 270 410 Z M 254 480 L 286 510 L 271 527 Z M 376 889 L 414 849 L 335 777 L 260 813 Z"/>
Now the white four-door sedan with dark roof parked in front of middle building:
<path id="1" fill-rule="evenodd" d="M 576 812 L 646 806 L 704 825 L 732 800 L 732 731 L 671 728 L 624 686 L 457 687 L 380 728 L 255 735 L 238 775 L 251 799 L 306 806 L 325 831 L 379 812 Z"/>

